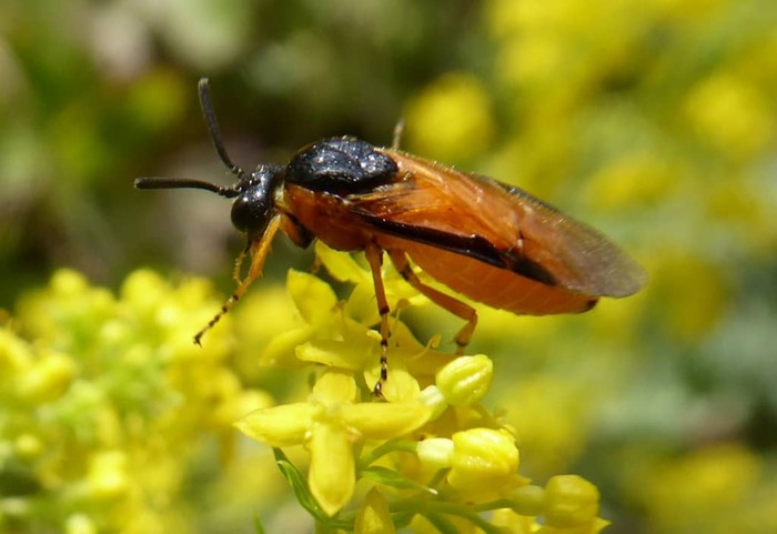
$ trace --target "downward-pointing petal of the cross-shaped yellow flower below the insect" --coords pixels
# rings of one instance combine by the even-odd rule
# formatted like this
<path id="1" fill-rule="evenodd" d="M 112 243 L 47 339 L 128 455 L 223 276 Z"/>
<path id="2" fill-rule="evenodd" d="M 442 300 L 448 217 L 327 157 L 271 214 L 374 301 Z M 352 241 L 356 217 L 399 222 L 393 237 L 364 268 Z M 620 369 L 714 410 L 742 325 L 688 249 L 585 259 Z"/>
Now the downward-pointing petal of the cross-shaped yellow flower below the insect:
<path id="1" fill-rule="evenodd" d="M 353 496 L 356 484 L 353 445 L 337 423 L 316 423 L 310 441 L 310 490 L 322 510 L 334 515 Z"/>

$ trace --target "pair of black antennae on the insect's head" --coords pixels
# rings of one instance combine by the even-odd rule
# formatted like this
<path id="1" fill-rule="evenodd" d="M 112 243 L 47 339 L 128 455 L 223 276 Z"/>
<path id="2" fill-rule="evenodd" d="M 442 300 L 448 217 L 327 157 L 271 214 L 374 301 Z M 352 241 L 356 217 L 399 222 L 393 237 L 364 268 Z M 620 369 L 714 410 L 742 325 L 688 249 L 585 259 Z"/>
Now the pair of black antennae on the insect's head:
<path id="1" fill-rule="evenodd" d="M 200 108 L 202 108 L 202 113 L 205 115 L 208 131 L 211 133 L 211 140 L 215 147 L 215 151 L 219 153 L 219 158 L 221 158 L 221 161 L 224 162 L 230 172 L 238 177 L 238 180 L 242 181 L 245 178 L 245 171 L 235 165 L 230 159 L 230 155 L 226 153 L 224 141 L 221 138 L 221 131 L 219 130 L 219 121 L 215 118 L 213 104 L 211 103 L 211 90 L 208 78 L 200 79 L 200 82 L 198 83 L 198 92 L 200 94 Z M 134 187 L 137 189 L 204 189 L 205 191 L 212 191 L 221 197 L 226 197 L 228 199 L 232 199 L 240 194 L 240 192 L 233 187 L 222 187 L 216 185 L 215 183 L 205 182 L 203 180 L 193 180 L 188 178 L 138 178 L 135 179 Z"/>

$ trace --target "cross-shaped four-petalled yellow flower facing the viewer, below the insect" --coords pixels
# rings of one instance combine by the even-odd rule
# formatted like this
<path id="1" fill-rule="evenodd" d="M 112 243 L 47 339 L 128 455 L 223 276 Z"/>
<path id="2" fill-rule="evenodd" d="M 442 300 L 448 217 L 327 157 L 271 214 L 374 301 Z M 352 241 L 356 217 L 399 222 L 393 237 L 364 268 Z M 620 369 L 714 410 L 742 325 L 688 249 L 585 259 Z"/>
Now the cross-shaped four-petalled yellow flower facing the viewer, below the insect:
<path id="1" fill-rule="evenodd" d="M 334 515 L 353 495 L 354 444 L 407 434 L 431 414 L 431 409 L 418 401 L 359 403 L 357 394 L 353 372 L 330 367 L 306 403 L 259 410 L 236 426 L 271 446 L 307 446 L 311 493 L 325 513 Z"/>

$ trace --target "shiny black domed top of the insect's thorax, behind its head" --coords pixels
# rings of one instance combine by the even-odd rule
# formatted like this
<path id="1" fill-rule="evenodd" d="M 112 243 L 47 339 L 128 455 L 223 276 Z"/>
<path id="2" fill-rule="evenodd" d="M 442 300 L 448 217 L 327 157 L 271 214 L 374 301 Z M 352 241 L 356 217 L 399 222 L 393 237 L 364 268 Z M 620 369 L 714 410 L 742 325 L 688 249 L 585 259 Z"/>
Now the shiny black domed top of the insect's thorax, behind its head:
<path id="1" fill-rule="evenodd" d="M 391 181 L 394 160 L 364 141 L 335 138 L 305 147 L 292 158 L 285 179 L 306 189 L 357 193 Z"/>

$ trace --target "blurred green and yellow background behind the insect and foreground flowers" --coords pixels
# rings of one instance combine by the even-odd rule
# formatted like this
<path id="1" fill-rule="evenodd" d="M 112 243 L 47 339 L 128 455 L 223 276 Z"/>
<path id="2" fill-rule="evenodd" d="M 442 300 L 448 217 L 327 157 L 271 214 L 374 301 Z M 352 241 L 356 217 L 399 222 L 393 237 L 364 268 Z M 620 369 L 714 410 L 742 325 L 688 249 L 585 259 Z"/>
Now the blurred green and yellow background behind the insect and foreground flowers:
<path id="1" fill-rule="evenodd" d="M 389 144 L 404 117 L 406 150 L 523 187 L 650 275 L 586 315 L 483 310 L 472 349 L 522 471 L 586 476 L 607 532 L 777 532 L 776 58 L 773 0 L 6 0 L 0 308 L 59 266 L 231 290 L 228 203 L 132 189 L 231 180 L 201 75 L 245 168 Z M 260 283 L 311 259 L 279 240 Z M 410 319 L 421 339 L 460 324 Z"/>

